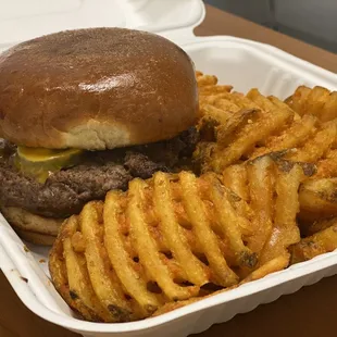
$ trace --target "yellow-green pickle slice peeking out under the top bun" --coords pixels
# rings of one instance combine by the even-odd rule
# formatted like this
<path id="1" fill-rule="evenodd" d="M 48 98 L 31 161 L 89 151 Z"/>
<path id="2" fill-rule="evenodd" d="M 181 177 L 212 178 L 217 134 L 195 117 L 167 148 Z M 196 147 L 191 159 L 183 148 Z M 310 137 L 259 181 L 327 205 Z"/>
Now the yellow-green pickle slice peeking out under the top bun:
<path id="1" fill-rule="evenodd" d="M 51 150 L 17 147 L 15 166 L 24 175 L 43 184 L 51 173 L 78 164 L 84 151 L 78 149 Z"/>

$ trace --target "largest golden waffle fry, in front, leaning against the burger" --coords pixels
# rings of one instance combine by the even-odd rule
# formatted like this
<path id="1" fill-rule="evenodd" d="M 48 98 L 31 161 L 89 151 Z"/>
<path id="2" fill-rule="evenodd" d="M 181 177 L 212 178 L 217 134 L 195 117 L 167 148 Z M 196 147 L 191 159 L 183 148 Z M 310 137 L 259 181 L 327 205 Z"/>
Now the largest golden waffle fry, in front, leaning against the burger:
<path id="1" fill-rule="evenodd" d="M 134 179 L 65 222 L 51 252 L 54 285 L 85 319 L 103 322 L 150 316 L 208 284 L 236 285 L 233 267 L 258 262 L 242 240 L 240 202 L 215 174 Z"/>

